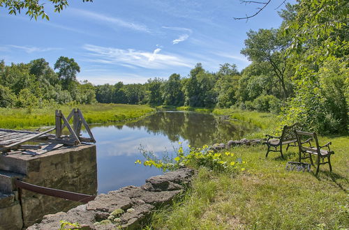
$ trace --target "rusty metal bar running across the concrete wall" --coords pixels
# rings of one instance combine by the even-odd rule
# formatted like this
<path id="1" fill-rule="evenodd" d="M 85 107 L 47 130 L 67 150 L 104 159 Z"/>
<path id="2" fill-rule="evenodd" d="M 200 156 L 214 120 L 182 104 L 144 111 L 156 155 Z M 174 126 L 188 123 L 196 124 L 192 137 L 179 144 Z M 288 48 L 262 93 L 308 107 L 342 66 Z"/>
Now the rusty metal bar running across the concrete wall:
<path id="1" fill-rule="evenodd" d="M 24 190 L 29 190 L 31 192 L 37 192 L 40 194 L 44 194 L 51 197 L 59 197 L 63 199 L 68 199 L 70 201 L 79 201 L 82 203 L 88 203 L 89 201 L 93 201 L 96 196 L 91 196 L 87 194 L 77 193 L 77 192 L 68 192 L 64 190 L 56 190 L 54 188 L 49 187 L 41 187 L 38 185 L 32 185 L 30 183 L 26 183 L 20 180 L 15 180 L 15 185 Z"/>

